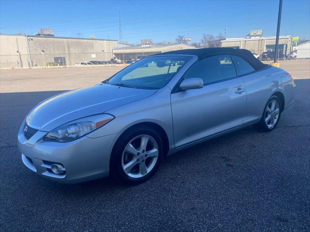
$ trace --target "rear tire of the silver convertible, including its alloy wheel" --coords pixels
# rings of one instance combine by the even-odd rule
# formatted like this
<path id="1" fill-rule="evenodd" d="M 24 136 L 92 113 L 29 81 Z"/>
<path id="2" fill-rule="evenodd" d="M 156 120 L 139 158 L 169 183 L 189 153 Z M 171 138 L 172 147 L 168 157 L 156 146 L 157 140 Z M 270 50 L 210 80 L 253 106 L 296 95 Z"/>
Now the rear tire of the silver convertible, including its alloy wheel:
<path id="1" fill-rule="evenodd" d="M 271 96 L 263 110 L 262 119 L 254 125 L 255 128 L 265 132 L 272 131 L 279 123 L 281 112 L 280 99 L 277 96 Z"/>

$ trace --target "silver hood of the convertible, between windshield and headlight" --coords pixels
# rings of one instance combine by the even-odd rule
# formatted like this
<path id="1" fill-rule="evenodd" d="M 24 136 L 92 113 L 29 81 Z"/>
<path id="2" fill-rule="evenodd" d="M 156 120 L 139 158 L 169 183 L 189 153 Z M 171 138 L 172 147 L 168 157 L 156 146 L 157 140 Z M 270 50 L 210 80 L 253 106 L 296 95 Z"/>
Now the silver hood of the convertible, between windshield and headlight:
<path id="1" fill-rule="evenodd" d="M 101 114 L 149 97 L 155 91 L 107 84 L 66 91 L 39 103 L 28 114 L 26 121 L 35 129 L 51 131 L 78 118 Z"/>

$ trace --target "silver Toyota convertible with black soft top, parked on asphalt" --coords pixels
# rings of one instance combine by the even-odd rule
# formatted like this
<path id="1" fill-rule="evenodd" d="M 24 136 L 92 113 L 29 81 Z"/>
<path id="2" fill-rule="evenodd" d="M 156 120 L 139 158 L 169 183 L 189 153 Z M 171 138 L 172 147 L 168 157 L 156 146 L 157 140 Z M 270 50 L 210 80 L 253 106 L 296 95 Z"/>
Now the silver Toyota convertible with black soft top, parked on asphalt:
<path id="1" fill-rule="evenodd" d="M 294 87 L 289 73 L 248 50 L 161 53 L 39 103 L 22 122 L 18 147 L 24 164 L 50 180 L 112 175 L 138 184 L 186 147 L 249 125 L 272 131 Z"/>

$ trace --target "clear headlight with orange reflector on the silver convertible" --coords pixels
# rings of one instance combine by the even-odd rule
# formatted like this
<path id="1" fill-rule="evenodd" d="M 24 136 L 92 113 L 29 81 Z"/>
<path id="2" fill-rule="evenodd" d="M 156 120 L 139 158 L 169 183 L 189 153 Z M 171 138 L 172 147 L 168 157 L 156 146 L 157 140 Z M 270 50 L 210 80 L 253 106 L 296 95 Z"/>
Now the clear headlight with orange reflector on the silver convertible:
<path id="1" fill-rule="evenodd" d="M 64 124 L 47 133 L 46 141 L 69 142 L 88 134 L 107 124 L 114 118 L 112 115 L 102 114 L 78 119 Z"/>

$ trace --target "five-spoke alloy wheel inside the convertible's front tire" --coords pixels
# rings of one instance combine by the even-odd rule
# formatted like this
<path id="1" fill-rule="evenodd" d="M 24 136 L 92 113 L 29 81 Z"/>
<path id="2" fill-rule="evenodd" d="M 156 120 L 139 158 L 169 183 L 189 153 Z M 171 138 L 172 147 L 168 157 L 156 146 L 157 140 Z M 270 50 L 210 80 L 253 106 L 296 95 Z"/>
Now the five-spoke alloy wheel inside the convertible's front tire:
<path id="1" fill-rule="evenodd" d="M 140 178 L 150 173 L 159 155 L 156 140 L 147 134 L 133 138 L 124 148 L 122 167 L 131 178 Z"/>

